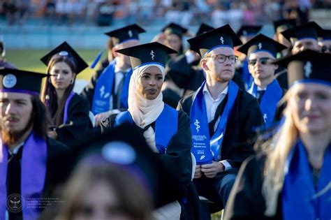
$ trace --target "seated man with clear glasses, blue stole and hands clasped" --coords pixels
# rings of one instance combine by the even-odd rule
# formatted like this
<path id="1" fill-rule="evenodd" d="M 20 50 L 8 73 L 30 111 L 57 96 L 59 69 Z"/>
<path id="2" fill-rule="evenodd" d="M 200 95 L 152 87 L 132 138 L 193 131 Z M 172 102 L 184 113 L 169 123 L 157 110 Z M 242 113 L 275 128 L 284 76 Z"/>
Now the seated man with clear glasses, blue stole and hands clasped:
<path id="1" fill-rule="evenodd" d="M 193 182 L 200 196 L 214 202 L 210 212 L 215 212 L 225 207 L 237 170 L 253 154 L 253 128 L 263 118 L 256 98 L 232 81 L 237 60 L 233 47 L 242 44 L 233 29 L 227 24 L 188 41 L 199 48 L 206 81 L 177 109 L 191 118 L 197 161 Z"/>

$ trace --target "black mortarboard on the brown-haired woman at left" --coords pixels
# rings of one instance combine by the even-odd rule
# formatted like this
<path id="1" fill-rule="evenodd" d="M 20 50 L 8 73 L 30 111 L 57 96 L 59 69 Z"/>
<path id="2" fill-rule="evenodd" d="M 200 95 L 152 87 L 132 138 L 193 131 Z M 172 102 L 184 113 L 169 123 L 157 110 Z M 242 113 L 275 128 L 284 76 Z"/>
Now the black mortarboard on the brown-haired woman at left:
<path id="1" fill-rule="evenodd" d="M 75 64 L 75 73 L 78 74 L 82 72 L 85 68 L 87 68 L 87 63 L 78 55 L 75 50 L 73 50 L 73 47 L 71 47 L 66 41 L 64 43 L 61 43 L 59 46 L 57 46 L 54 50 L 47 53 L 44 57 L 41 58 L 41 61 L 48 66 L 48 63 L 52 59 L 54 55 L 68 57 L 73 61 L 73 64 Z"/>

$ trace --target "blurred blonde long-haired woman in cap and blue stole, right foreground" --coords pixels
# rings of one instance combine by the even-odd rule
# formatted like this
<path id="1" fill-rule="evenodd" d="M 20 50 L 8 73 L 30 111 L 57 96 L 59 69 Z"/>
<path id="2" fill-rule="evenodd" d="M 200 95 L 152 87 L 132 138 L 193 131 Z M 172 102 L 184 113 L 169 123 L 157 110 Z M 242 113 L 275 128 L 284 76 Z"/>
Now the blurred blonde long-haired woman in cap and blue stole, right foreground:
<path id="1" fill-rule="evenodd" d="M 223 219 L 331 218 L 331 54 L 305 50 L 288 68 L 285 122 L 244 161 Z"/>

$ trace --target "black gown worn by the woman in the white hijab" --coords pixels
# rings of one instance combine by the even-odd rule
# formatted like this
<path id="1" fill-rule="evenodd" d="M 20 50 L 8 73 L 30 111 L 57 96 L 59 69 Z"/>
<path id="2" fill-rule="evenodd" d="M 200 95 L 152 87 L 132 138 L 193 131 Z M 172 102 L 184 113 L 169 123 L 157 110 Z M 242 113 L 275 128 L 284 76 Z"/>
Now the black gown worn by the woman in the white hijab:
<path id="1" fill-rule="evenodd" d="M 103 133 L 108 132 L 115 124 L 116 114 L 110 115 L 102 122 Z M 191 160 L 191 129 L 190 119 L 185 112 L 178 113 L 177 133 L 170 139 L 166 153 L 156 154 L 163 165 L 168 168 L 170 175 L 162 177 L 163 186 L 159 187 L 156 197 L 156 207 L 161 207 L 174 200 L 178 200 L 182 205 L 181 219 L 198 219 L 198 193 L 191 182 L 192 160 Z M 135 124 L 131 124 L 134 129 L 145 132 Z M 155 131 L 155 122 L 151 124 Z M 148 128 L 148 126 L 147 126 Z M 183 198 L 187 198 L 187 203 L 183 203 Z M 183 211 L 184 210 L 184 211 Z"/>

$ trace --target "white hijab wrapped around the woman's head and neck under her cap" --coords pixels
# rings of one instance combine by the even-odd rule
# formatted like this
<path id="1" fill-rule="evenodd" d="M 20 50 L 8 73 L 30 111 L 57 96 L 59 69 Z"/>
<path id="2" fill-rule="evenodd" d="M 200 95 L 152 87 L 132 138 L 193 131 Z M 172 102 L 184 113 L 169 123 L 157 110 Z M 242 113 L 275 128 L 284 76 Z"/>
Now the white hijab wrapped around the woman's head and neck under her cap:
<path id="1" fill-rule="evenodd" d="M 128 112 L 130 112 L 133 122 L 142 129 L 144 129 L 145 126 L 152 124 L 152 122 L 155 122 L 164 108 L 162 92 L 160 92 L 160 94 L 153 100 L 149 100 L 137 92 L 136 85 L 138 80 L 149 66 L 156 66 L 159 68 L 164 80 L 165 68 L 163 66 L 159 64 L 146 64 L 133 70 L 128 85 Z M 154 152 L 159 152 L 155 145 L 155 132 L 152 127 L 149 127 L 143 135 L 149 147 L 151 147 Z"/>

